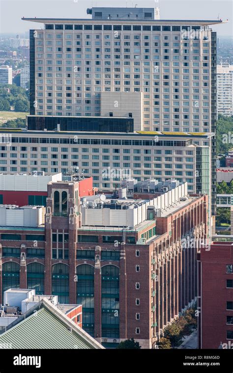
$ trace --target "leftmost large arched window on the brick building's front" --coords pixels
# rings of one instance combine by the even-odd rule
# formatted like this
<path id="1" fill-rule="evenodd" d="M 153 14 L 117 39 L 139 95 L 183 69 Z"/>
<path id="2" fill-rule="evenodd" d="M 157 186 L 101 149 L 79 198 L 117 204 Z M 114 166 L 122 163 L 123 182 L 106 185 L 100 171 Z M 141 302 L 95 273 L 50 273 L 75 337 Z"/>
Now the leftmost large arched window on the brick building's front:
<path id="1" fill-rule="evenodd" d="M 2 303 L 4 292 L 8 289 L 20 288 L 20 265 L 16 262 L 6 262 L 2 265 Z"/>

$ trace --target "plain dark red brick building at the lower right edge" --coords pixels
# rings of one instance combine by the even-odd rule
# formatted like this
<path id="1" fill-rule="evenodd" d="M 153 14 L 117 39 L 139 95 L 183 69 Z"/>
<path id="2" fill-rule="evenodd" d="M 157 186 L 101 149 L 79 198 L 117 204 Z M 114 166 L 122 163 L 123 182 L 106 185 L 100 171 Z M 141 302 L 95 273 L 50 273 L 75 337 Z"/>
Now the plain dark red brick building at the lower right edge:
<path id="1" fill-rule="evenodd" d="M 199 299 L 199 348 L 218 348 L 221 343 L 232 348 L 233 242 L 212 242 L 207 250 L 201 248 Z"/>

